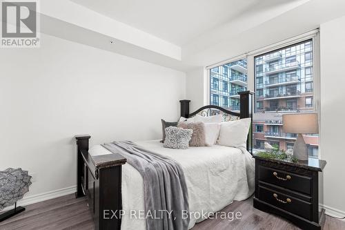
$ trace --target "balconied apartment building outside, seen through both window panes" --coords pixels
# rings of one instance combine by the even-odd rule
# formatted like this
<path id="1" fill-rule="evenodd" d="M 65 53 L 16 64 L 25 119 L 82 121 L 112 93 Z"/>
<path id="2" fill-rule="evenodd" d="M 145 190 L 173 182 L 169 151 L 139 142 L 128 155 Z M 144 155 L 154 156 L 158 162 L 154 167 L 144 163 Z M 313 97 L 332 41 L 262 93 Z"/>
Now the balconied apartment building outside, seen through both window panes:
<path id="1" fill-rule="evenodd" d="M 240 91 L 247 90 L 247 61 L 241 59 L 210 69 L 210 104 L 239 111 Z M 253 144 L 293 148 L 297 135 L 285 133 L 282 115 L 313 113 L 313 40 L 254 57 L 255 113 Z M 252 79 L 253 80 L 253 79 Z M 317 157 L 318 135 L 304 134 L 309 155 Z"/>

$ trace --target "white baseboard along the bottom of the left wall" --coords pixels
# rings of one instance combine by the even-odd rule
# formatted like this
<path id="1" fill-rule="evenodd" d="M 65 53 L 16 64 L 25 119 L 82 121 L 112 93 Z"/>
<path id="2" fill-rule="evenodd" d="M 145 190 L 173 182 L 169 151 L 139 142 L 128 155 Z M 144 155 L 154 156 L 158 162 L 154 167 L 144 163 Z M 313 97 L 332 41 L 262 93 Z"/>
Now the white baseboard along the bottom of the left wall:
<path id="1" fill-rule="evenodd" d="M 34 203 L 38 203 L 38 202 L 42 202 L 45 200 L 50 200 L 50 199 L 54 199 L 54 198 L 59 198 L 63 195 L 70 195 L 72 193 L 75 193 L 77 191 L 77 186 L 70 186 L 68 188 L 65 189 L 57 189 L 55 191 L 49 191 L 47 193 L 40 193 L 37 195 L 29 195 L 28 197 L 25 197 L 21 200 L 19 200 L 19 202 L 17 202 L 17 206 L 21 205 L 21 206 L 26 206 L 29 204 L 34 204 Z M 10 206 L 10 207 L 6 207 L 5 209 L 1 210 L 1 211 L 8 211 L 10 209 L 13 209 L 14 205 Z"/>

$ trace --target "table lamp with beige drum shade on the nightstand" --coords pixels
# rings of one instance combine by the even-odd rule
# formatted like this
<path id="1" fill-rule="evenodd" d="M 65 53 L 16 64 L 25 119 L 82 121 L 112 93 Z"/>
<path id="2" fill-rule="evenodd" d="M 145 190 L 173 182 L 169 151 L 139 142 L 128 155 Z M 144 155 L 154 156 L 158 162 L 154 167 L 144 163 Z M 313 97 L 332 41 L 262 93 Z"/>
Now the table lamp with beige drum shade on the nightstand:
<path id="1" fill-rule="evenodd" d="M 308 160 L 308 148 L 302 133 L 318 133 L 317 113 L 298 113 L 283 115 L 284 133 L 298 133 L 293 146 L 297 160 Z"/>

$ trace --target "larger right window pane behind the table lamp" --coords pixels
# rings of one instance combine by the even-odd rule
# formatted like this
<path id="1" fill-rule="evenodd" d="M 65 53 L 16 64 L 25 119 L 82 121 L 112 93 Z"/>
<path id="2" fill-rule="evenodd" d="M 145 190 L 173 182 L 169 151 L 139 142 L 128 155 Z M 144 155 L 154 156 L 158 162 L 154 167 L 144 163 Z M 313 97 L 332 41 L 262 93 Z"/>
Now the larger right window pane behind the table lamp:
<path id="1" fill-rule="evenodd" d="M 253 123 L 260 124 L 273 119 L 278 121 L 264 126 L 267 132 L 264 137 L 260 133 L 253 133 L 255 148 L 260 148 L 263 142 L 277 144 L 284 150 L 293 148 L 296 135 L 284 133 L 282 115 L 313 111 L 313 52 L 313 40 L 309 39 L 254 57 L 252 80 L 256 96 Z M 263 73 L 260 73 L 260 65 Z M 260 130 L 255 126 L 255 131 Z M 317 138 L 315 135 L 305 139 L 306 144 L 310 145 L 309 155 L 317 155 Z"/>

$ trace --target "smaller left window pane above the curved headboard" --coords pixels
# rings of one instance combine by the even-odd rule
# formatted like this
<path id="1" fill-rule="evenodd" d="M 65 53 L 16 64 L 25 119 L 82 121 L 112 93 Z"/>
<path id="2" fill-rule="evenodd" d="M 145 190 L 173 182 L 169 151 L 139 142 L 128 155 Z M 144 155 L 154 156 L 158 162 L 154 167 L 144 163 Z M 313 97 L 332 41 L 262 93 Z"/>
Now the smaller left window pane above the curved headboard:
<path id="1" fill-rule="evenodd" d="M 238 92 L 247 90 L 247 61 L 240 59 L 210 69 L 210 104 L 239 110 Z M 236 96 L 236 97 L 235 97 Z"/>

